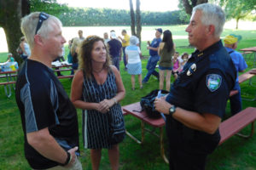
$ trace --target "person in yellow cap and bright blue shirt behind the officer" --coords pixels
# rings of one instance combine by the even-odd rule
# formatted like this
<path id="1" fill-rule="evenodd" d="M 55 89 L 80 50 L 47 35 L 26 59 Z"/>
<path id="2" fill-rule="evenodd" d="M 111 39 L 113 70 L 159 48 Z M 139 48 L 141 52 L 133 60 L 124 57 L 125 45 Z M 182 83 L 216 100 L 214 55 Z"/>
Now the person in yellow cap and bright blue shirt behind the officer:
<path id="1" fill-rule="evenodd" d="M 241 111 L 241 88 L 238 82 L 238 72 L 243 72 L 247 68 L 247 63 L 243 59 L 242 55 L 235 51 L 239 40 L 241 40 L 241 36 L 236 36 L 234 34 L 224 37 L 224 47 L 230 54 L 237 71 L 236 84 L 233 90 L 238 90 L 238 94 L 230 97 L 230 110 L 232 116 Z"/>

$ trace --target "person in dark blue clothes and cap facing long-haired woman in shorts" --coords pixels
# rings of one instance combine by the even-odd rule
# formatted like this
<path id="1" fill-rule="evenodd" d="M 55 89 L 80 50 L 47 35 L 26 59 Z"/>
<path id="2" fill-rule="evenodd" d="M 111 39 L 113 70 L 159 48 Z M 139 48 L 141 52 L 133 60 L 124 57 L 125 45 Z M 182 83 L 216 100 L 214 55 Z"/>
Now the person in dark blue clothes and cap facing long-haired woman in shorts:
<path id="1" fill-rule="evenodd" d="M 157 77 L 157 79 L 159 80 L 159 72 L 154 71 L 154 68 L 160 59 L 160 56 L 158 54 L 158 48 L 159 48 L 160 42 L 162 41 L 161 40 L 162 33 L 163 33 L 163 30 L 161 28 L 156 29 L 155 30 L 155 38 L 153 39 L 153 41 L 151 43 L 148 41 L 147 49 L 149 49 L 150 57 L 148 59 L 148 64 L 147 64 L 148 73 L 147 73 L 146 77 L 144 77 L 143 83 L 148 82 L 148 80 L 152 74 L 155 77 Z"/>

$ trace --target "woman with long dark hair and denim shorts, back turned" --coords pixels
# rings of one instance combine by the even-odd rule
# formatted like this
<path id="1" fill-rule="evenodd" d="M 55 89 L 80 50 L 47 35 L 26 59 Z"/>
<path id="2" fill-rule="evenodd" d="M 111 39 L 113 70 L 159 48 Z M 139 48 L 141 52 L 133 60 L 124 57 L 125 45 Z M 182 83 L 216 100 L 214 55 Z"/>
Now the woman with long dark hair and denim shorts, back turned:
<path id="1" fill-rule="evenodd" d="M 171 74 L 172 74 L 172 55 L 175 52 L 175 45 L 172 41 L 172 32 L 164 31 L 163 41 L 160 42 L 158 54 L 160 55 L 159 74 L 160 82 L 159 88 L 164 88 L 165 71 L 166 71 L 166 91 L 170 91 Z"/>

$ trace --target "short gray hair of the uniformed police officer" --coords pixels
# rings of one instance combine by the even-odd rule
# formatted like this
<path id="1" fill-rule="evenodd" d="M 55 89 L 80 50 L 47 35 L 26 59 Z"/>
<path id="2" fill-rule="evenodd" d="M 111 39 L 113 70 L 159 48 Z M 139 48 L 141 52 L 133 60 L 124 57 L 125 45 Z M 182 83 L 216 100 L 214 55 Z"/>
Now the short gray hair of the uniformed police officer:
<path id="1" fill-rule="evenodd" d="M 197 10 L 202 12 L 202 24 L 205 26 L 213 25 L 215 27 L 214 37 L 220 37 L 225 23 L 225 14 L 222 8 L 214 4 L 202 3 L 193 8 L 192 14 Z"/>

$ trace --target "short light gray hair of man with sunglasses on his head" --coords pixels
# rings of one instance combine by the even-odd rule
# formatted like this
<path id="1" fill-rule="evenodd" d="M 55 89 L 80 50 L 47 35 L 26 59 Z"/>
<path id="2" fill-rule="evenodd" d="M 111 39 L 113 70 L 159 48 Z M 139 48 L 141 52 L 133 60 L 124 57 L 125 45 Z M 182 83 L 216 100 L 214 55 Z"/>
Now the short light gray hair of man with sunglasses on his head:
<path id="1" fill-rule="evenodd" d="M 20 29 L 26 37 L 26 41 L 31 49 L 34 47 L 34 36 L 38 26 L 39 14 L 40 12 L 33 12 L 21 19 Z M 52 25 L 53 23 L 62 26 L 61 20 L 49 14 L 49 18 L 43 21 L 42 26 L 39 28 L 37 34 L 39 34 L 41 37 L 47 38 L 49 32 L 54 30 Z"/>

